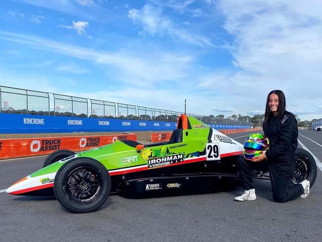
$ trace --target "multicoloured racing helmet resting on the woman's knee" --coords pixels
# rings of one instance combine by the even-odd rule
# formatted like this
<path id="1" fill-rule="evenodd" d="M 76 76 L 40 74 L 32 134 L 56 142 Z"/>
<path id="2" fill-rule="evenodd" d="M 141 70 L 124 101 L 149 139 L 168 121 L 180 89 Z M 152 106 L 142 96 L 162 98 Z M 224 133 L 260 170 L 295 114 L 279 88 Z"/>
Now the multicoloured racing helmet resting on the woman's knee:
<path id="1" fill-rule="evenodd" d="M 263 154 L 263 151 L 268 150 L 269 140 L 261 133 L 253 133 L 247 136 L 244 143 L 244 158 L 252 160 L 254 157 Z"/>

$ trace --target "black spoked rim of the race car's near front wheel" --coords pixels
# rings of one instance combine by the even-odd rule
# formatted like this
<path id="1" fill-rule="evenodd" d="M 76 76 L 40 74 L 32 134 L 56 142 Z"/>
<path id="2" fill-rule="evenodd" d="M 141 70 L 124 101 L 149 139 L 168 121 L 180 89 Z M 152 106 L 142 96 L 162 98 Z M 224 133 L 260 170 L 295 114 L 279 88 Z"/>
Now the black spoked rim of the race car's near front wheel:
<path id="1" fill-rule="evenodd" d="M 90 167 L 78 167 L 68 174 L 65 182 L 67 196 L 79 204 L 95 201 L 102 193 L 102 178 Z"/>

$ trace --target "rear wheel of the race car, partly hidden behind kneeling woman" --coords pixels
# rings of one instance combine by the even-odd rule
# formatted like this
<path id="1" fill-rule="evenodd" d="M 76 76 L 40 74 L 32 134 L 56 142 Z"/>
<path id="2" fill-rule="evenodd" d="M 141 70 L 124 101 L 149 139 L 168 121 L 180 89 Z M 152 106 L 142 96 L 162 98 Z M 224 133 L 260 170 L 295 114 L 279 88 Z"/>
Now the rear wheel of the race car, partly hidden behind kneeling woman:
<path id="1" fill-rule="evenodd" d="M 293 182 L 299 183 L 304 180 L 310 181 L 310 187 L 313 186 L 315 180 L 317 179 L 317 164 L 313 156 L 304 149 L 296 149 L 295 151 L 295 170 Z"/>

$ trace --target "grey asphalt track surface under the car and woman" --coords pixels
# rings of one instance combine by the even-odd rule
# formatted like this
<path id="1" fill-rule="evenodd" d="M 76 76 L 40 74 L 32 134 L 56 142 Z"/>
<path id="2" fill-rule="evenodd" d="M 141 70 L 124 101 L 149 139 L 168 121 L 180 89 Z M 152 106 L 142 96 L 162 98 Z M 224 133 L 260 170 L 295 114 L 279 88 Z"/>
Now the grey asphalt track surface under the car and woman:
<path id="1" fill-rule="evenodd" d="M 322 132 L 299 133 L 300 142 L 322 161 Z M 242 143 L 246 134 L 229 136 Z M 73 214 L 53 197 L 12 196 L 2 191 L 41 168 L 44 159 L 0 162 L 0 242 L 322 241 L 319 169 L 310 196 L 287 203 L 273 202 L 270 182 L 256 180 L 256 201 L 234 201 L 242 191 L 237 185 L 207 194 L 139 199 L 111 195 L 98 211 Z"/>

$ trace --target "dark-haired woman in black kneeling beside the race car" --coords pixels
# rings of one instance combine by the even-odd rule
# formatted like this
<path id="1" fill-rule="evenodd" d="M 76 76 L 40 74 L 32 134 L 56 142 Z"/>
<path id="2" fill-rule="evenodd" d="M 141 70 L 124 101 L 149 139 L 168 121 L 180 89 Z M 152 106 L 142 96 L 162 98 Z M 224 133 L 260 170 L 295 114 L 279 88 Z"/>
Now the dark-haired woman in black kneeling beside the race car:
<path id="1" fill-rule="evenodd" d="M 295 169 L 295 150 L 297 147 L 297 121 L 295 116 L 285 110 L 285 95 L 280 90 L 273 90 L 268 94 L 263 130 L 268 137 L 270 147 L 263 155 L 253 160 L 238 159 L 239 176 L 244 193 L 235 197 L 237 201 L 251 201 L 256 199 L 252 185 L 252 171 L 268 170 L 276 202 L 287 202 L 296 197 L 308 197 L 310 182 L 304 180 L 294 184 L 293 171 Z"/>

